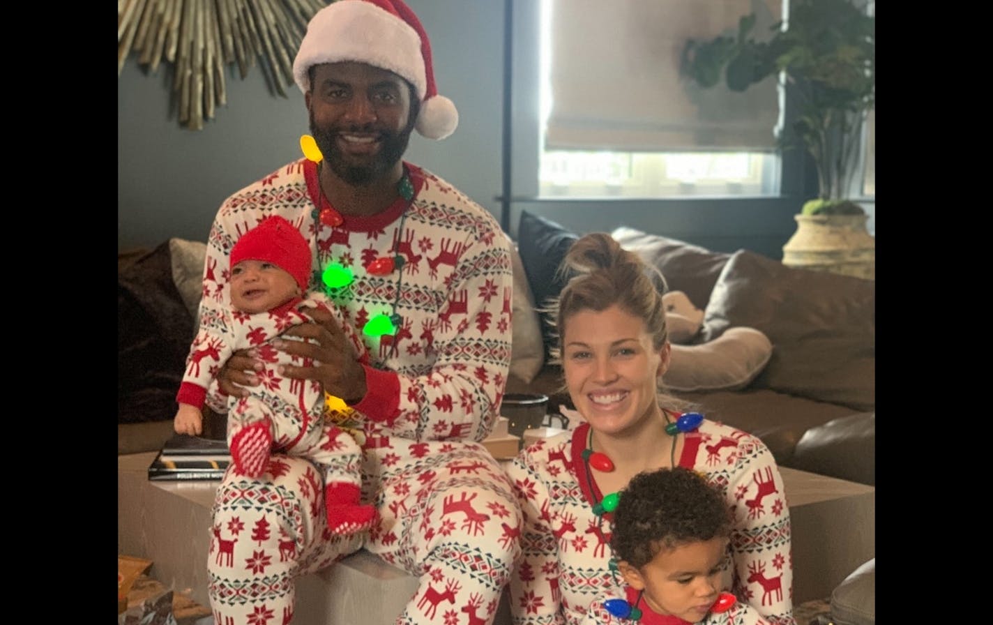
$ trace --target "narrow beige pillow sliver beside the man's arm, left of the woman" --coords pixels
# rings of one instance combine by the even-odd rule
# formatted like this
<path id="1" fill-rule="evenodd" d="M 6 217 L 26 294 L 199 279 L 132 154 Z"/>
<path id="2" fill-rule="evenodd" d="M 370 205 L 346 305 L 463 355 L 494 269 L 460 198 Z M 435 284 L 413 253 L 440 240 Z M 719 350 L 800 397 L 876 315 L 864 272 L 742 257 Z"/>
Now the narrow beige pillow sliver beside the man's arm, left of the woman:
<path id="1" fill-rule="evenodd" d="M 513 268 L 510 375 L 525 384 L 530 384 L 545 364 L 545 346 L 541 338 L 538 311 L 534 307 L 534 295 L 527 283 L 524 263 L 512 240 L 510 240 L 510 264 Z"/>

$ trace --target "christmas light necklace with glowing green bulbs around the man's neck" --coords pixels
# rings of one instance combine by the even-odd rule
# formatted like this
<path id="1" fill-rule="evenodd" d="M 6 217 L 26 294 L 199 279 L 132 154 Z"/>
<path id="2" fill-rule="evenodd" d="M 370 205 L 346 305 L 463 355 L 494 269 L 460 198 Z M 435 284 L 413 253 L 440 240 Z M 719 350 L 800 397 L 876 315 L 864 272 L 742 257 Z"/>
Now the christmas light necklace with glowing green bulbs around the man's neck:
<path id="1" fill-rule="evenodd" d="M 338 228 L 345 223 L 345 218 L 335 210 L 331 205 L 331 200 L 324 193 L 324 187 L 321 184 L 321 169 L 324 165 L 324 155 L 318 148 L 314 137 L 309 134 L 300 137 L 300 148 L 308 160 L 317 163 L 318 199 L 315 209 L 311 212 L 311 217 L 314 219 L 315 225 L 321 224 L 329 228 Z M 407 203 L 407 206 L 404 207 L 403 212 L 400 214 L 400 224 L 393 239 L 392 256 L 379 256 L 364 265 L 365 270 L 371 275 L 389 275 L 393 271 L 396 271 L 396 295 L 393 300 L 391 314 L 380 313 L 375 315 L 362 326 L 362 334 L 367 337 L 374 338 L 382 335 L 395 335 L 403 324 L 403 317 L 396 312 L 396 309 L 400 303 L 400 287 L 403 283 L 403 263 L 406 259 L 402 254 L 397 252 L 396 246 L 399 244 L 403 235 L 407 210 L 410 208 L 410 203 L 414 199 L 414 185 L 410 181 L 410 174 L 407 172 L 406 167 L 403 168 L 403 175 L 396 184 L 396 192 Z M 325 203 L 327 203 L 327 206 L 324 206 Z M 317 236 L 317 230 L 315 228 L 315 236 Z M 355 281 L 355 273 L 351 267 L 346 267 L 342 263 L 334 261 L 330 262 L 321 273 L 321 281 L 326 287 L 328 296 L 337 300 L 338 297 L 345 293 L 345 289 Z M 390 348 L 390 356 L 395 356 L 396 350 L 397 345 L 394 341 Z"/>

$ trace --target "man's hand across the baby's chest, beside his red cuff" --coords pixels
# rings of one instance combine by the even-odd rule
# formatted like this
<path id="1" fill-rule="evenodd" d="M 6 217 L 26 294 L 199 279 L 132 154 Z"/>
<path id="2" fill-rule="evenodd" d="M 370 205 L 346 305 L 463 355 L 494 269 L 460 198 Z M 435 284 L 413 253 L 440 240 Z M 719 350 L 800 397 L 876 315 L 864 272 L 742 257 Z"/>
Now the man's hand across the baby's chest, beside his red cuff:
<path id="1" fill-rule="evenodd" d="M 279 373 L 296 380 L 316 380 L 325 392 L 357 403 L 365 396 L 365 370 L 355 360 L 355 346 L 346 338 L 330 312 L 321 308 L 301 308 L 315 323 L 294 326 L 283 333 L 306 341 L 272 342 L 277 350 L 309 358 L 311 367 L 281 365 Z M 233 360 L 233 359 L 231 359 Z"/>

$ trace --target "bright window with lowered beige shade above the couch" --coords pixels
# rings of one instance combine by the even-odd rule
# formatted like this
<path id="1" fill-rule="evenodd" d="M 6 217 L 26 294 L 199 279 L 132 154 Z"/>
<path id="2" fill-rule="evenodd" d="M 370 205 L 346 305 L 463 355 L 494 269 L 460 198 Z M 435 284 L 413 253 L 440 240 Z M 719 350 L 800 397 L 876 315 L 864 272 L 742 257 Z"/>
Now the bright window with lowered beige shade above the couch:
<path id="1" fill-rule="evenodd" d="M 756 36 L 780 19 L 780 0 L 759 4 Z M 539 196 L 778 194 L 775 80 L 701 97 L 678 76 L 687 38 L 731 33 L 755 6 L 541 0 Z"/>

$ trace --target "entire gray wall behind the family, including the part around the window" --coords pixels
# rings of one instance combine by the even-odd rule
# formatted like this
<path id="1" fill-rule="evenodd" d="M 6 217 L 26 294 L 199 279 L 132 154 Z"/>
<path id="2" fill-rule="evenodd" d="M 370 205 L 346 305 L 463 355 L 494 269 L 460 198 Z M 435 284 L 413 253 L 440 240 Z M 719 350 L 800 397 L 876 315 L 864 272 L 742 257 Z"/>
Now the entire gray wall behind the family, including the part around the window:
<path id="1" fill-rule="evenodd" d="M 503 0 L 408 0 L 431 38 L 439 91 L 459 109 L 459 128 L 442 141 L 412 135 L 405 158 L 447 179 L 499 217 L 502 197 Z M 513 8 L 513 184 L 508 231 L 520 211 L 583 234 L 616 226 L 666 234 L 719 251 L 748 248 L 781 258 L 812 171 L 786 159 L 785 198 L 661 201 L 537 201 L 537 7 Z M 134 55 L 118 78 L 117 247 L 152 247 L 171 236 L 204 240 L 228 195 L 301 156 L 308 132 L 303 94 L 271 94 L 256 65 L 246 78 L 229 68 L 227 104 L 203 130 L 179 125 L 171 75 L 146 76 Z M 805 182 L 804 182 L 805 181 Z M 812 182 L 812 185 L 811 185 Z M 870 232 L 875 234 L 875 204 Z"/>

